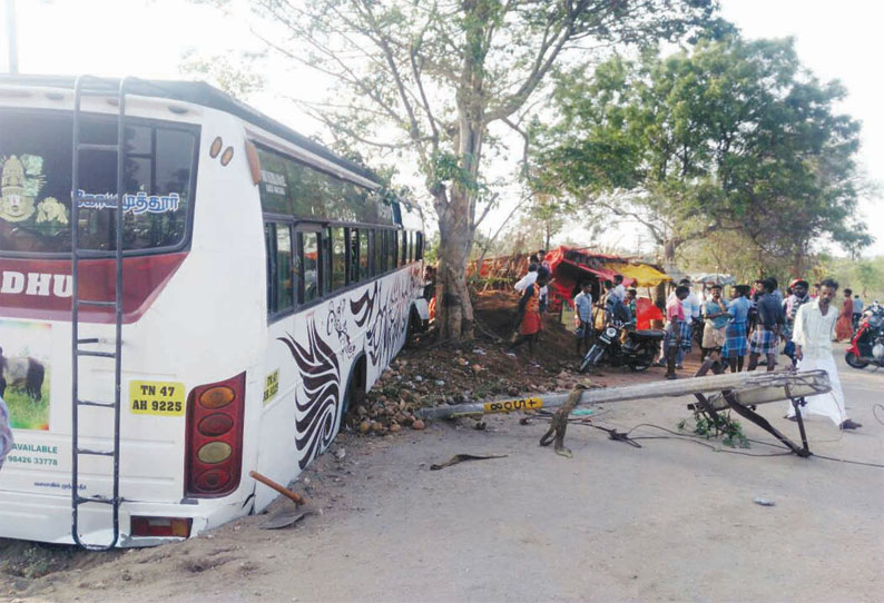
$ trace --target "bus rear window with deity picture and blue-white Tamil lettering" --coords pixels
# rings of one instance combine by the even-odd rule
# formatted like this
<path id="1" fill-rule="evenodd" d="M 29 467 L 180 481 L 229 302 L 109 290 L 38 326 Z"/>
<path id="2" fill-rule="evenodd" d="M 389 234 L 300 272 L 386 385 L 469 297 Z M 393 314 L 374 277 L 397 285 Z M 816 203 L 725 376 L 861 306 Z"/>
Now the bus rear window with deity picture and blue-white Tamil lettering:
<path id="1" fill-rule="evenodd" d="M 72 117 L 0 112 L 0 253 L 69 253 Z M 116 145 L 112 117 L 84 117 L 81 142 Z M 174 125 L 126 127 L 124 249 L 181 245 L 193 205 L 196 132 Z M 116 248 L 117 155 L 80 152 L 79 246 Z"/>

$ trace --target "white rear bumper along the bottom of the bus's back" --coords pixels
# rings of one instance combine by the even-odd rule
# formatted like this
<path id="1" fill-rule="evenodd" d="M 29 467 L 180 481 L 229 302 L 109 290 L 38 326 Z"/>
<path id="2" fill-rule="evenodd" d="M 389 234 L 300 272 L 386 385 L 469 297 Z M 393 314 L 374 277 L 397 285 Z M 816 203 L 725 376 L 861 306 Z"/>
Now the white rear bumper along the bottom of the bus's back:
<path id="1" fill-rule="evenodd" d="M 199 501 L 196 504 L 143 503 L 124 501 L 119 508 L 119 547 L 156 546 L 180 537 L 131 536 L 134 515 L 193 520 L 190 537 L 245 515 L 242 500 Z M 86 504 L 80 507 L 80 540 L 104 545 L 112 538 L 109 507 Z M 75 544 L 71 536 L 70 496 L 0 491 L 0 537 L 53 544 Z"/>

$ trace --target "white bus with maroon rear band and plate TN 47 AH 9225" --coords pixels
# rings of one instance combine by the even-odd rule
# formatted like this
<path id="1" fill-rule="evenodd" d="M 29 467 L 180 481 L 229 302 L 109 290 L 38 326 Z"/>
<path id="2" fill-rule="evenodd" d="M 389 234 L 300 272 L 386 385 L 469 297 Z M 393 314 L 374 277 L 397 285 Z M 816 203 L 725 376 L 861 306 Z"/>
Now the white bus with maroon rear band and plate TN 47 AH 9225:
<path id="1" fill-rule="evenodd" d="M 0 77 L 0 536 L 146 546 L 262 511 L 249 471 L 294 478 L 426 318 L 421 229 L 204 83 Z"/>

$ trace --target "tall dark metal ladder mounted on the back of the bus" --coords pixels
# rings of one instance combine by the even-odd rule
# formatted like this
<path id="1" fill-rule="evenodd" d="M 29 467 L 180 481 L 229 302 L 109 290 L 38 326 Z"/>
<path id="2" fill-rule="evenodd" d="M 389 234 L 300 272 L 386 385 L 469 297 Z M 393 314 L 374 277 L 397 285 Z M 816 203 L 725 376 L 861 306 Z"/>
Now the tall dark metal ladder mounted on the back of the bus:
<path id="1" fill-rule="evenodd" d="M 126 122 L 126 83 L 124 78 L 119 80 L 119 86 L 115 89 L 112 82 L 81 76 L 77 78 L 73 86 L 73 167 L 71 171 L 71 536 L 73 542 L 84 548 L 92 551 L 106 551 L 116 546 L 119 540 L 119 505 L 121 502 L 119 494 L 119 432 L 120 432 L 120 382 L 121 382 L 121 350 L 122 350 L 122 216 L 124 216 L 124 167 L 125 167 L 125 122 Z M 84 97 L 107 97 L 117 100 L 117 144 L 99 145 L 80 141 L 81 126 L 81 102 Z M 117 162 L 117 207 L 114 209 L 116 217 L 116 241 L 114 250 L 85 249 L 80 247 L 79 237 L 79 190 L 80 190 L 80 152 L 91 151 L 105 155 L 116 155 Z M 114 280 L 114 300 L 92 300 L 80 298 L 79 275 L 80 263 L 86 259 L 112 259 L 116 268 Z M 112 308 L 115 316 L 114 339 L 99 339 L 98 337 L 80 337 L 80 309 L 82 307 Z M 114 352 L 89 349 L 96 344 L 112 343 Z M 114 362 L 114 401 L 87 401 L 80 397 L 79 365 L 84 356 L 105 358 Z M 114 413 L 114 434 L 112 446 L 109 449 L 85 448 L 80 444 L 80 409 L 85 406 L 102 409 L 102 412 Z M 112 463 L 110 497 L 102 495 L 82 496 L 80 495 L 79 462 L 80 457 L 92 456 L 108 458 Z M 79 534 L 80 510 L 85 505 L 98 505 L 110 507 L 111 538 L 107 543 L 88 543 L 81 540 Z"/>

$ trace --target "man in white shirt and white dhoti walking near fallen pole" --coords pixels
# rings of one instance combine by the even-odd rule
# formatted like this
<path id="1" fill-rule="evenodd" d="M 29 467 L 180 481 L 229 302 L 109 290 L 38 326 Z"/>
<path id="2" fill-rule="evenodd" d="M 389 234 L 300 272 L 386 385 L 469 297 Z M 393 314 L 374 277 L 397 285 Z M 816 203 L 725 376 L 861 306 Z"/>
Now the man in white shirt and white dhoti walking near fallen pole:
<path id="1" fill-rule="evenodd" d="M 818 297 L 798 308 L 792 340 L 795 343 L 798 370 L 825 370 L 832 382 L 832 392 L 807 397 L 806 406 L 802 407 L 802 416 L 823 415 L 831 418 L 841 429 L 856 429 L 862 425 L 847 417 L 838 369 L 832 356 L 832 336 L 835 332 L 835 322 L 838 319 L 838 310 L 832 307 L 832 300 L 838 290 L 838 284 L 827 278 L 819 285 Z M 797 419 L 792 405 L 786 418 Z"/>

